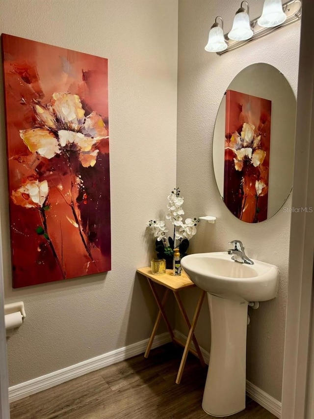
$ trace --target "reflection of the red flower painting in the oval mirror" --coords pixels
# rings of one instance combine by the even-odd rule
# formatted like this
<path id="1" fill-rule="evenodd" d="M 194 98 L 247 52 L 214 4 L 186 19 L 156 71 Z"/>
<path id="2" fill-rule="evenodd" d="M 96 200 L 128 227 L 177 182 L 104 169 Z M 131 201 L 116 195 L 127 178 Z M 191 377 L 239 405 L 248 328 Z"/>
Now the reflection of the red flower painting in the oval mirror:
<path id="1" fill-rule="evenodd" d="M 267 219 L 271 101 L 226 92 L 224 202 L 246 223 Z"/>

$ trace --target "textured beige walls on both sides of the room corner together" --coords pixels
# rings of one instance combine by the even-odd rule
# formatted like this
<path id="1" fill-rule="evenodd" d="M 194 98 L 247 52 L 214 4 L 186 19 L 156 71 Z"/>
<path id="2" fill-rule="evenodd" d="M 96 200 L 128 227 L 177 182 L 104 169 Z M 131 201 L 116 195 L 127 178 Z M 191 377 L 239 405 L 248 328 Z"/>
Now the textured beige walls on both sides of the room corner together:
<path id="1" fill-rule="evenodd" d="M 262 2 L 256 3 L 252 17 L 261 11 Z M 188 215 L 218 217 L 216 224 L 199 225 L 191 250 L 226 250 L 229 240 L 239 238 L 249 256 L 280 268 L 278 298 L 250 310 L 247 372 L 251 382 L 280 400 L 290 217 L 281 211 L 260 225 L 235 219 L 216 189 L 211 143 L 222 95 L 245 66 L 274 65 L 296 92 L 299 24 L 219 57 L 204 51 L 209 28 L 218 14 L 230 28 L 238 2 L 180 0 L 179 5 L 177 184 Z M 6 302 L 23 300 L 27 312 L 23 327 L 8 340 L 11 385 L 149 335 L 154 303 L 134 272 L 149 261 L 144 223 L 159 216 L 176 176 L 177 20 L 177 0 L 0 3 L 1 32 L 109 59 L 112 271 L 107 274 L 12 290 L 1 111 L 5 296 Z M 161 158 L 151 157 L 155 149 L 162 150 Z M 190 312 L 197 293 L 185 295 Z M 197 332 L 209 349 L 206 306 Z"/>

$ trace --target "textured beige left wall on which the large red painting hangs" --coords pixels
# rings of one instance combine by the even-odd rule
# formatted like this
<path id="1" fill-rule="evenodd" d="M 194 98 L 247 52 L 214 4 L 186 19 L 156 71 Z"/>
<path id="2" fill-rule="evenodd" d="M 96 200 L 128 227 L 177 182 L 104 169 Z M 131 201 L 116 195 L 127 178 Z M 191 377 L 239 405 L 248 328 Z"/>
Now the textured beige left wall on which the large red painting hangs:
<path id="1" fill-rule="evenodd" d="M 148 264 L 152 251 L 145 223 L 159 215 L 175 186 L 178 1 L 3 0 L 0 31 L 109 60 L 107 274 L 12 290 L 1 88 L 5 297 L 23 300 L 27 316 L 7 342 L 14 385 L 149 336 L 155 304 L 135 270 Z"/>

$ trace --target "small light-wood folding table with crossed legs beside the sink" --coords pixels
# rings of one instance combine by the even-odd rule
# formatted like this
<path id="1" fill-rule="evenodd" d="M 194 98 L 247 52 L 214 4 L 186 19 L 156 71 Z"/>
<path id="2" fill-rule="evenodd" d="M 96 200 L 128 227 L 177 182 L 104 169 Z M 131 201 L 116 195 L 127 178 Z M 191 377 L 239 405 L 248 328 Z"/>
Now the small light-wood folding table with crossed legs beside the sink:
<path id="1" fill-rule="evenodd" d="M 191 352 L 193 355 L 195 355 L 197 358 L 199 358 L 200 361 L 201 361 L 201 364 L 203 366 L 205 366 L 205 362 L 204 362 L 202 352 L 200 350 L 199 344 L 197 343 L 196 337 L 194 335 L 194 330 L 195 330 L 197 319 L 198 319 L 198 316 L 200 314 L 200 310 L 201 310 L 206 292 L 205 291 L 201 292 L 201 295 L 199 297 L 198 303 L 197 303 L 196 308 L 195 308 L 192 323 L 190 323 L 190 321 L 188 319 L 188 316 L 186 314 L 186 311 L 183 307 L 182 300 L 181 300 L 180 295 L 179 295 L 179 291 L 181 289 L 184 289 L 184 288 L 194 287 L 195 284 L 187 277 L 187 275 L 185 274 L 184 271 L 182 272 L 182 275 L 178 276 L 178 277 L 172 275 L 172 270 L 171 269 L 167 269 L 167 273 L 164 274 L 164 275 L 153 275 L 152 270 L 151 270 L 150 267 L 139 268 L 139 269 L 137 269 L 137 272 L 141 275 L 144 275 L 146 277 L 146 279 L 148 280 L 148 283 L 151 287 L 151 290 L 153 292 L 153 295 L 154 295 L 155 300 L 157 302 L 157 305 L 159 307 L 157 318 L 156 318 L 156 321 L 155 321 L 155 324 L 154 324 L 154 327 L 153 327 L 152 334 L 149 338 L 144 357 L 148 358 L 148 356 L 149 356 L 149 353 L 150 353 L 150 350 L 151 350 L 151 347 L 152 347 L 152 344 L 153 344 L 153 341 L 154 341 L 154 337 L 156 335 L 157 328 L 158 328 L 158 325 L 159 325 L 159 322 L 160 322 L 160 319 L 161 319 L 161 316 L 162 316 L 166 325 L 167 325 L 167 328 L 168 328 L 168 331 L 170 333 L 172 341 L 175 342 L 175 343 L 178 343 L 178 344 L 180 344 L 184 347 L 183 356 L 182 356 L 182 359 L 181 359 L 181 363 L 180 363 L 180 367 L 179 367 L 179 371 L 178 371 L 178 375 L 177 375 L 177 379 L 176 379 L 176 383 L 180 384 L 188 352 Z M 162 300 L 160 300 L 160 298 L 157 294 L 155 283 L 165 287 L 165 292 L 163 294 Z M 181 342 L 179 339 L 177 339 L 175 337 L 175 335 L 173 333 L 173 330 L 170 326 L 169 320 L 167 318 L 166 312 L 164 310 L 164 307 L 165 307 L 166 301 L 168 299 L 168 295 L 169 295 L 170 290 L 173 292 L 173 294 L 175 296 L 175 299 L 176 299 L 176 302 L 179 306 L 180 312 L 181 312 L 181 314 L 183 316 L 183 319 L 184 319 L 184 321 L 185 321 L 185 323 L 186 323 L 186 325 L 189 329 L 189 333 L 187 335 L 187 339 L 186 339 L 185 343 Z M 195 350 L 190 348 L 191 341 L 193 341 L 193 343 L 194 343 Z"/>

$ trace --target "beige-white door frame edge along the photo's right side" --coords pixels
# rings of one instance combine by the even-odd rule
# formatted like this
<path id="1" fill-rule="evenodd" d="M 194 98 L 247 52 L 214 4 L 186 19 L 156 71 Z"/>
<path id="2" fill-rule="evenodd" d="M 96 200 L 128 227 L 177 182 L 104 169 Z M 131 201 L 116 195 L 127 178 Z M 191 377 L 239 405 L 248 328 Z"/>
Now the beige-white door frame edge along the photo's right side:
<path id="1" fill-rule="evenodd" d="M 313 0 L 303 0 L 298 104 L 291 213 L 288 307 L 282 393 L 282 418 L 307 416 L 309 344 L 314 258 L 314 48 Z"/>

